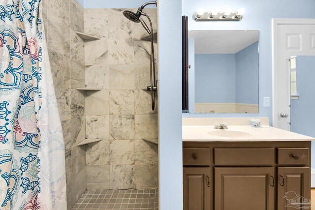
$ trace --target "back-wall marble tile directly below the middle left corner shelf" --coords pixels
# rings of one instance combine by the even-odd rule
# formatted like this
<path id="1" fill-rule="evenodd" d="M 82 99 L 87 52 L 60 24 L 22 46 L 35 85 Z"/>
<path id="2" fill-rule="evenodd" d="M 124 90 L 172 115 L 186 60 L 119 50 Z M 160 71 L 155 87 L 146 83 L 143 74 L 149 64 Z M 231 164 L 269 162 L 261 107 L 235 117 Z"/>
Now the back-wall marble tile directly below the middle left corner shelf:
<path id="1" fill-rule="evenodd" d="M 109 115 L 109 90 L 85 92 L 86 115 Z"/>

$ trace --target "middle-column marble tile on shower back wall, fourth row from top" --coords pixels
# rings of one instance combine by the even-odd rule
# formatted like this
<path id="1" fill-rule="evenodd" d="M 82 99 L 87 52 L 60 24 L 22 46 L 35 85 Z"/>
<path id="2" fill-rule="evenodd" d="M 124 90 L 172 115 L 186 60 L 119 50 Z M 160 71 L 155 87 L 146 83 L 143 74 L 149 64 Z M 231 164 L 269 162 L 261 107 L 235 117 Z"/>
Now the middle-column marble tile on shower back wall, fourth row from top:
<path id="1" fill-rule="evenodd" d="M 109 112 L 111 115 L 134 115 L 134 91 L 110 90 Z"/>

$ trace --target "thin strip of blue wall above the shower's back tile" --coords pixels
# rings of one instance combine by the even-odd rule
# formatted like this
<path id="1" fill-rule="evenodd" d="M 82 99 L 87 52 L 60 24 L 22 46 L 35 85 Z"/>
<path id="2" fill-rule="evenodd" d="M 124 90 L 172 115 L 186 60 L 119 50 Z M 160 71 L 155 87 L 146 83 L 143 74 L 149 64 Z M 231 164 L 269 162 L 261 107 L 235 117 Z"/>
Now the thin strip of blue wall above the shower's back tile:
<path id="1" fill-rule="evenodd" d="M 147 1 L 153 0 L 85 0 L 84 8 L 138 8 Z M 147 7 L 155 8 L 155 5 Z"/>

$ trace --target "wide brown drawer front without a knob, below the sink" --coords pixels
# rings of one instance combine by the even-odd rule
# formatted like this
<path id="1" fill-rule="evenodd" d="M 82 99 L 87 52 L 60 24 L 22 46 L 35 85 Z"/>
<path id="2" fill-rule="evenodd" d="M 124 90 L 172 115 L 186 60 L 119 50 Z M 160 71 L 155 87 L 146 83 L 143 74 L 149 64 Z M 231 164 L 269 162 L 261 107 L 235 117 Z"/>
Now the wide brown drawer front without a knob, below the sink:
<path id="1" fill-rule="evenodd" d="M 272 165 L 275 160 L 274 148 L 215 148 L 215 165 Z"/>

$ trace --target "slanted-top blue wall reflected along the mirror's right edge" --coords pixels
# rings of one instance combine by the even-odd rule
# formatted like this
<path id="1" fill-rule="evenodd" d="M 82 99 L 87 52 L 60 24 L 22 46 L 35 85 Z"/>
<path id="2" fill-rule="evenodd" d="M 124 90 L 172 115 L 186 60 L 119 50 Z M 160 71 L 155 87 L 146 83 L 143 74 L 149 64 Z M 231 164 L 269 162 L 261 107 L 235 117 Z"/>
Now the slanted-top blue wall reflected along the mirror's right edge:
<path id="1" fill-rule="evenodd" d="M 236 103 L 258 104 L 258 41 L 235 54 Z"/>

